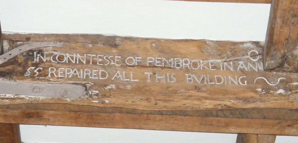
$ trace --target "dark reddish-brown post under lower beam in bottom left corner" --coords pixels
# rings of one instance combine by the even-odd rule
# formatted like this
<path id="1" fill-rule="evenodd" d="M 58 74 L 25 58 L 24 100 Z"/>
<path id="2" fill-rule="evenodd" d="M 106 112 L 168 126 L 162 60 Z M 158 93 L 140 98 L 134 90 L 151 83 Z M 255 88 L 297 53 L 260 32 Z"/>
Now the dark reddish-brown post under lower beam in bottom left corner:
<path id="1" fill-rule="evenodd" d="M 0 123 L 0 143 L 21 143 L 19 124 Z"/>

